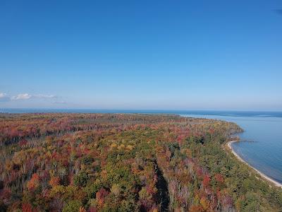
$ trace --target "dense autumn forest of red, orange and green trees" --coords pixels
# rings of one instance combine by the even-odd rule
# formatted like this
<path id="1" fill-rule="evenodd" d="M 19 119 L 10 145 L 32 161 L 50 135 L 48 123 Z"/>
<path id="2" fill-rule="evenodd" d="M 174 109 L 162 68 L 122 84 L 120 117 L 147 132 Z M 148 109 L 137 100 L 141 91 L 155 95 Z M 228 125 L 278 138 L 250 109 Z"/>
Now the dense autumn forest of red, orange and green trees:
<path id="1" fill-rule="evenodd" d="M 1 114 L 0 211 L 281 211 L 224 144 L 233 123 L 145 114 Z"/>

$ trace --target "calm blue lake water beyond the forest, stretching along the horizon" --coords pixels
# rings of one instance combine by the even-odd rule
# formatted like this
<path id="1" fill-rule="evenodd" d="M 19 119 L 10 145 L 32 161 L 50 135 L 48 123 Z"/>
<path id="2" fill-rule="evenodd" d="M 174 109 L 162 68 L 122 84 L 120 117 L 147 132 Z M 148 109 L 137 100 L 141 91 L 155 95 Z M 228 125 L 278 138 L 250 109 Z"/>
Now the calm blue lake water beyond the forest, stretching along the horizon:
<path id="1" fill-rule="evenodd" d="M 234 150 L 257 170 L 282 183 L 282 112 L 63 109 L 0 109 L 0 112 L 166 113 L 235 122 L 245 131 L 240 134 L 244 142 L 233 143 Z"/>

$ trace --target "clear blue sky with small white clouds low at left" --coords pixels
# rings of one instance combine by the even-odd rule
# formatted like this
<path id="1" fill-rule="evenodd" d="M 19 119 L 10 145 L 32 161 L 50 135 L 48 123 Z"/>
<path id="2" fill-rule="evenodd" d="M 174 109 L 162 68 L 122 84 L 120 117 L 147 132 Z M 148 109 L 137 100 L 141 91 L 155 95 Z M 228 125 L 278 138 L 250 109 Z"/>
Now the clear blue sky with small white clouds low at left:
<path id="1" fill-rule="evenodd" d="M 282 1 L 0 1 L 0 108 L 282 110 Z"/>

